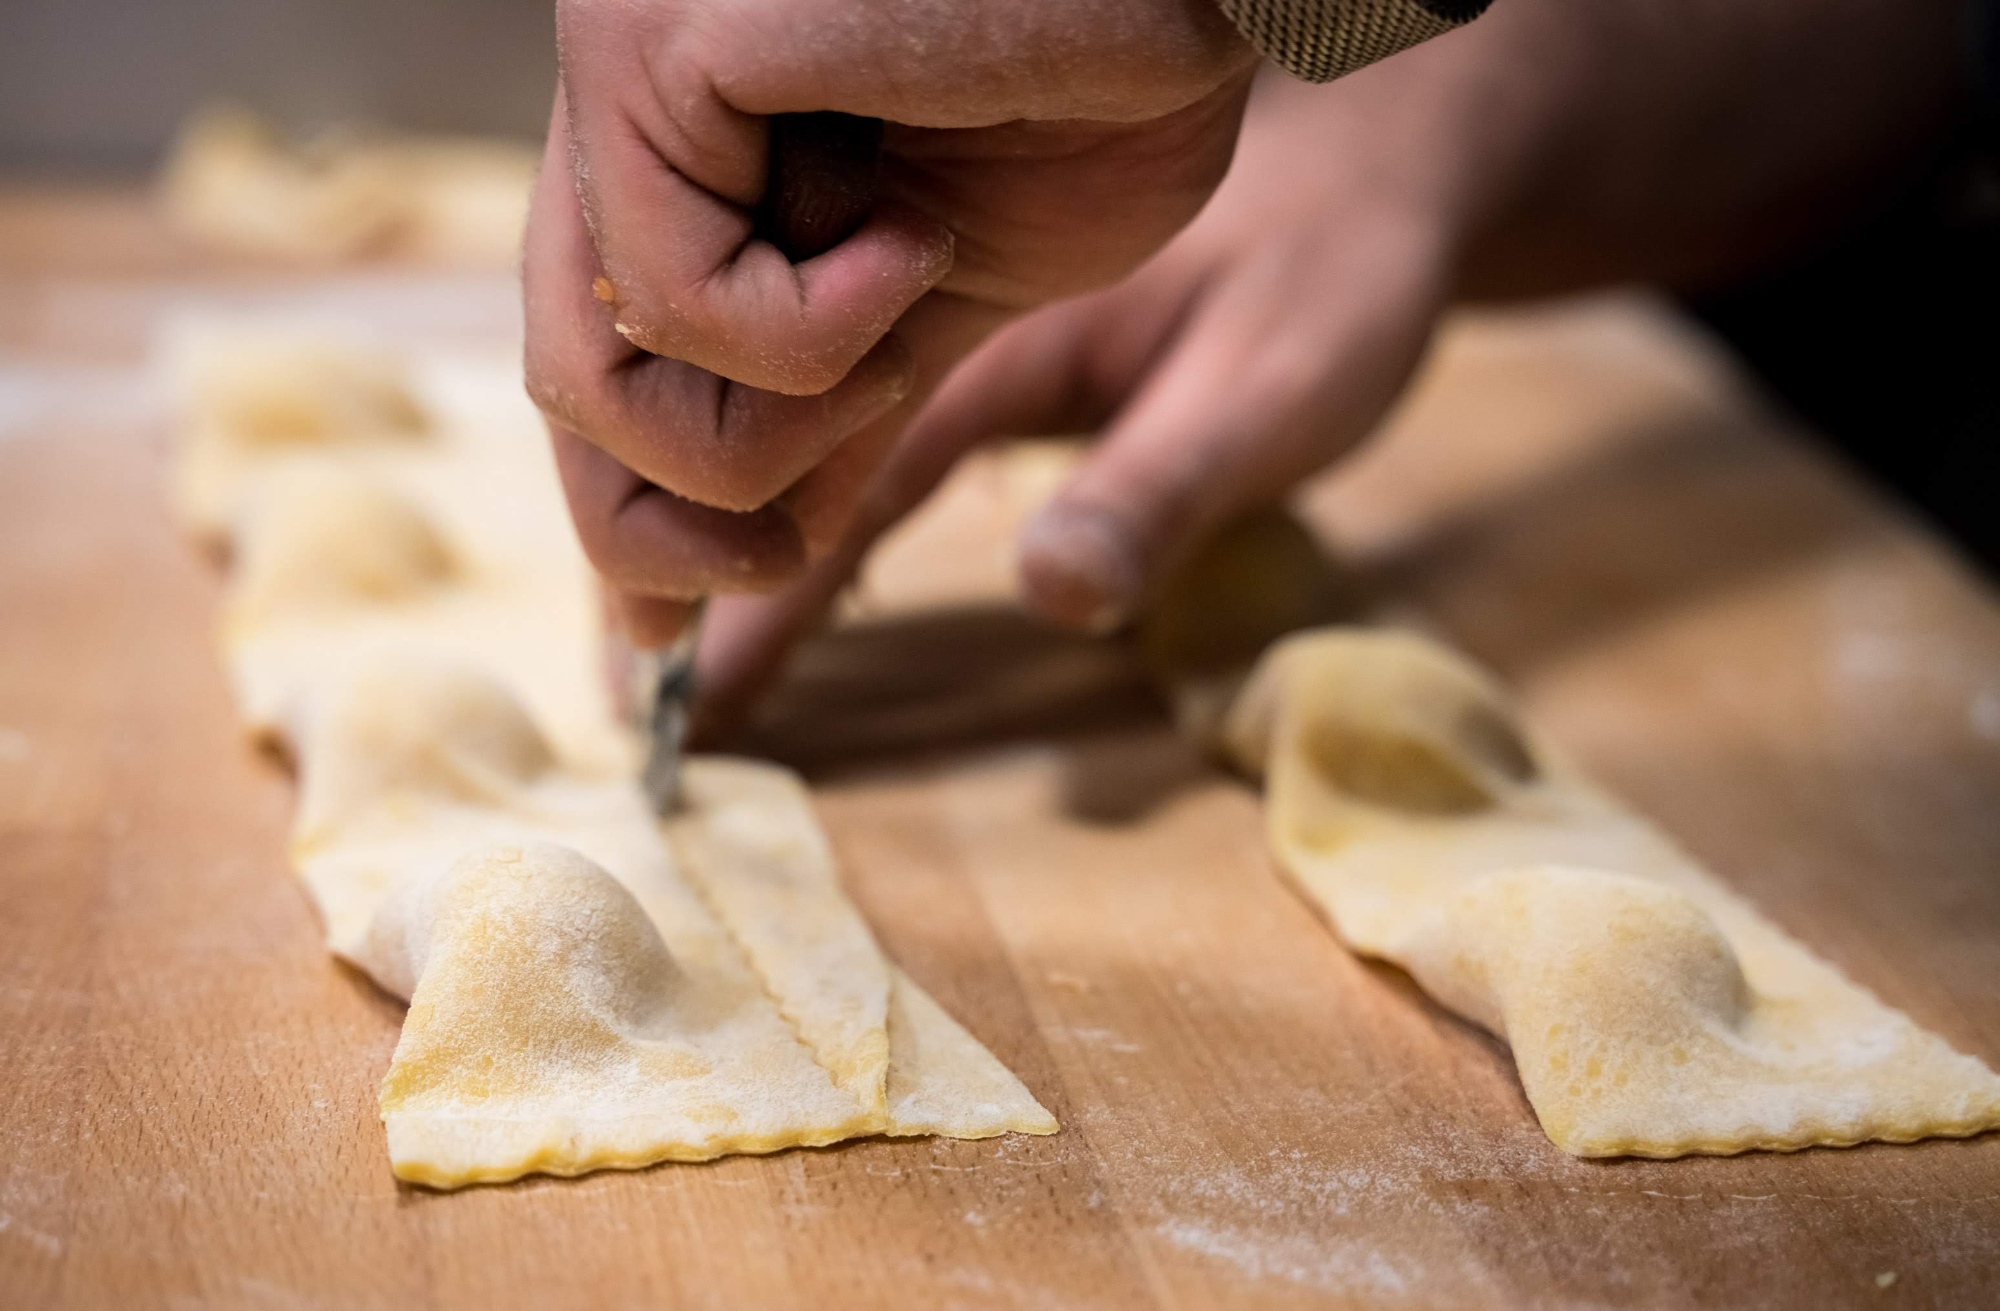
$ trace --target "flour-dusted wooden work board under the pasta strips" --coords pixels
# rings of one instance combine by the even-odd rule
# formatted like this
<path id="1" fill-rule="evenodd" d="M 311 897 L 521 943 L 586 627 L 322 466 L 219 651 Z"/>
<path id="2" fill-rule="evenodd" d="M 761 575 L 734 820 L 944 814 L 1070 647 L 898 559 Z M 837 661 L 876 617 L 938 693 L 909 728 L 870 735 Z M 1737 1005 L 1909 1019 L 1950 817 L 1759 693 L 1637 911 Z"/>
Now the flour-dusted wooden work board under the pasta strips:
<path id="1" fill-rule="evenodd" d="M 146 314 L 218 284 L 78 212 L 102 262 L 42 202 L 56 254 L 0 270 L 0 1305 L 2000 1301 L 2000 1135 L 1564 1157 L 1498 1043 L 1284 889 L 1122 650 L 1004 604 L 822 640 L 756 741 L 1058 1137 L 396 1185 L 400 1007 L 286 873 L 132 382 Z M 1462 322 L 1304 502 L 1382 614 L 2000 1063 L 2000 608 L 1682 324 Z"/>

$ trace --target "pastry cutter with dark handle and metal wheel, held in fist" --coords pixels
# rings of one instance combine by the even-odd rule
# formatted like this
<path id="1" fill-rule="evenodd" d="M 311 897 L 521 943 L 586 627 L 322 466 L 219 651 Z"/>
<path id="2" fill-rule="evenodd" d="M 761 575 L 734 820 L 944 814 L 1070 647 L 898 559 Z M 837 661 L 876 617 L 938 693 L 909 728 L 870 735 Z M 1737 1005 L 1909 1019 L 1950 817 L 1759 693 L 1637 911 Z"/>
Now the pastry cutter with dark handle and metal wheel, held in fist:
<path id="1" fill-rule="evenodd" d="M 876 160 L 882 154 L 882 120 L 852 114 L 774 114 L 770 120 L 770 172 L 756 234 L 792 264 L 844 242 L 874 206 Z M 672 644 L 638 650 L 632 659 L 646 767 L 640 785 L 654 813 L 680 805 L 680 757 L 694 707 L 694 652 L 702 640 L 706 598 Z"/>

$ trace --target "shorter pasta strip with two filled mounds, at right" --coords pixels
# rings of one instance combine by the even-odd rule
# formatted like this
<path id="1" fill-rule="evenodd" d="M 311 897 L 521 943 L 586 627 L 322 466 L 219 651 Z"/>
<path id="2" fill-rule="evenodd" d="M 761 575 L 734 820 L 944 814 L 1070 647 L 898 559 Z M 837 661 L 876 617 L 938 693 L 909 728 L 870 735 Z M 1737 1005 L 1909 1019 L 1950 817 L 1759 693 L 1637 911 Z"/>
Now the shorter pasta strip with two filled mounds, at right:
<path id="1" fill-rule="evenodd" d="M 1364 955 L 1506 1039 L 1574 1155 L 2000 1127 L 2000 1079 L 1876 1001 L 1532 741 L 1414 636 L 1272 648 L 1226 745 L 1278 863 Z"/>

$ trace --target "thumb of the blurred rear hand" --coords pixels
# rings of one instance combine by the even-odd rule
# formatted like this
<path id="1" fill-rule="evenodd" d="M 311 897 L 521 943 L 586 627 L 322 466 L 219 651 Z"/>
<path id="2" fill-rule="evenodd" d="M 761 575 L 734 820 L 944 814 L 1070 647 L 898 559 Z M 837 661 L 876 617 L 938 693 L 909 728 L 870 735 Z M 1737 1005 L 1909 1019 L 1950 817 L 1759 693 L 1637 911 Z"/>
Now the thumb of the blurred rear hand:
<path id="1" fill-rule="evenodd" d="M 1032 608 L 1086 632 L 1120 628 L 1210 534 L 1368 434 L 1422 358 L 1442 296 L 1408 266 L 1334 286 L 1302 294 L 1282 254 L 1210 286 L 1022 532 Z"/>

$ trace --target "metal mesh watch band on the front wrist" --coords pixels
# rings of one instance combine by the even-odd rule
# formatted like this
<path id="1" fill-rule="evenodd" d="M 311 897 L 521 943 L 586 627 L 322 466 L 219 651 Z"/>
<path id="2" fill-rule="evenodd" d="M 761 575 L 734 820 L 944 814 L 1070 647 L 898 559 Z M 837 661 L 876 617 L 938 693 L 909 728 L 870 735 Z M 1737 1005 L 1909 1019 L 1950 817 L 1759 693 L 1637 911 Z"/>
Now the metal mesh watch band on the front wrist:
<path id="1" fill-rule="evenodd" d="M 1294 78 L 1332 82 L 1472 22 L 1490 0 L 1218 0 L 1258 52 Z"/>

